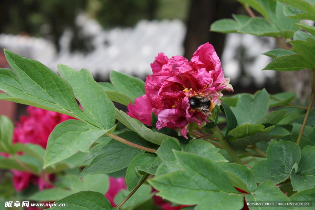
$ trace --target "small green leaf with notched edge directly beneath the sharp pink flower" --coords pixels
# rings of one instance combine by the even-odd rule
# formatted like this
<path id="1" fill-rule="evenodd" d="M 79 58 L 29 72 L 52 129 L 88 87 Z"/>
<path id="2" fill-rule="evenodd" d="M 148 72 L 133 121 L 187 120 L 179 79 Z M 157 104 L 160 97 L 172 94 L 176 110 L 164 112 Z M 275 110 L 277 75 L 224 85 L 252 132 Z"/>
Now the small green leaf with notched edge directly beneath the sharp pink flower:
<path id="1" fill-rule="evenodd" d="M 157 149 L 156 154 L 163 160 L 163 162 L 157 168 L 156 176 L 160 176 L 164 173 L 170 173 L 176 170 L 180 170 L 181 167 L 176 161 L 173 150 L 180 151 L 180 146 L 172 139 L 164 139 L 162 145 Z"/>

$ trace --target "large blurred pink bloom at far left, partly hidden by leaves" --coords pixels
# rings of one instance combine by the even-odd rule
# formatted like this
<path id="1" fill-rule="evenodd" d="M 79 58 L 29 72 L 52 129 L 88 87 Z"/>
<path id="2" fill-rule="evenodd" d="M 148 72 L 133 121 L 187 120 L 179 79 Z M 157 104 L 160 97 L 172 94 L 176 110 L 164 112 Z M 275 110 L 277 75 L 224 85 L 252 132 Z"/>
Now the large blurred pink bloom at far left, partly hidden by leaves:
<path id="1" fill-rule="evenodd" d="M 40 145 L 46 149 L 48 137 L 53 131 L 54 127 L 66 120 L 75 119 L 65 114 L 60 114 L 54 111 L 47 111 L 34 106 L 28 106 L 26 108 L 27 116 L 20 116 L 20 122 L 15 122 L 16 127 L 13 131 L 14 143 L 27 144 L 32 143 Z M 1 156 L 9 158 L 10 155 L 1 152 Z M 16 191 L 26 189 L 30 182 L 38 185 L 39 190 L 49 189 L 54 185 L 47 183 L 42 177 L 38 177 L 29 172 L 23 172 L 18 170 L 11 170 L 13 173 L 13 186 Z M 54 174 L 43 173 L 46 179 L 54 181 Z"/>

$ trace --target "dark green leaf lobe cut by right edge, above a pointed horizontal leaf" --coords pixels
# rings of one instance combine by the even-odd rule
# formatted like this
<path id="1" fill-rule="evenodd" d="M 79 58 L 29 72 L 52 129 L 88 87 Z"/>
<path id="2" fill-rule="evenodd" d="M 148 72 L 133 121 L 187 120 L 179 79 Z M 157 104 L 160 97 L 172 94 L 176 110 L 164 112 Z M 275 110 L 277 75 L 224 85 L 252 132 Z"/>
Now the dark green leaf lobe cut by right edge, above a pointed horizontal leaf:
<path id="1" fill-rule="evenodd" d="M 306 39 L 306 42 L 301 40 L 290 41 L 290 44 L 295 50 L 313 66 L 315 65 L 315 40 L 312 38 Z"/>

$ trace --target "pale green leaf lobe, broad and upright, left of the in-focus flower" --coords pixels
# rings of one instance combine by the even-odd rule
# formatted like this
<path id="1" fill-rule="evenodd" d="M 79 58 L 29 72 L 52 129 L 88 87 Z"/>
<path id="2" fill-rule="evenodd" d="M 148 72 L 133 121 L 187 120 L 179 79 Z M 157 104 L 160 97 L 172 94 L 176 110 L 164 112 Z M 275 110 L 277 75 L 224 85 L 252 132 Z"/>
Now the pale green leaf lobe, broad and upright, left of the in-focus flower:
<path id="1" fill-rule="evenodd" d="M 115 106 L 91 73 L 86 69 L 78 72 L 63 64 L 58 64 L 58 70 L 61 77 L 70 83 L 85 114 L 98 123 L 97 127 L 103 130 L 112 128 L 115 124 Z"/>

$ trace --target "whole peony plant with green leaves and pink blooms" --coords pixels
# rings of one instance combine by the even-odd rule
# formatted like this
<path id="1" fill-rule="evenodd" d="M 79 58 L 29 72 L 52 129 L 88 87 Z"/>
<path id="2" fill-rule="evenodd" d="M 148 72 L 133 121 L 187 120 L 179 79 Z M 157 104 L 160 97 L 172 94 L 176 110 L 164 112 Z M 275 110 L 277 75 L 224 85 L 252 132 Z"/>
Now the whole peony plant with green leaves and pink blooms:
<path id="1" fill-rule="evenodd" d="M 211 30 L 275 37 L 286 49 L 264 53 L 275 58 L 264 70 L 312 71 L 307 107 L 294 104 L 293 93 L 265 89 L 223 96 L 233 89 L 209 43 L 190 61 L 158 54 L 146 82 L 112 71 L 111 82 L 97 83 L 88 70 L 62 64 L 59 76 L 5 50 L 13 71 L 0 69 L 1 99 L 76 119 L 36 126 L 35 133 L 54 128 L 44 150 L 38 140 L 13 141 L 12 123 L 0 118 L 7 154 L 0 167 L 30 169 L 54 184 L 21 198 L 66 205 L 51 209 L 313 209 L 315 28 L 298 21 L 315 20 L 315 2 L 240 2 L 250 16 L 218 20 Z"/>

